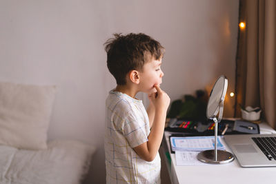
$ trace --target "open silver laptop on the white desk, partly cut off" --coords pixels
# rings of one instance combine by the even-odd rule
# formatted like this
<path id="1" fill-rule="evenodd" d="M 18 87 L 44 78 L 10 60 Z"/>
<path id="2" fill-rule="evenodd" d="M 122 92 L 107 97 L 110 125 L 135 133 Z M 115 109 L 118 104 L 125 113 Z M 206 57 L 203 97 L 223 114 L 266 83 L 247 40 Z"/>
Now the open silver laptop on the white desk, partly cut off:
<path id="1" fill-rule="evenodd" d="M 242 167 L 276 166 L 276 134 L 225 135 L 224 140 Z"/>

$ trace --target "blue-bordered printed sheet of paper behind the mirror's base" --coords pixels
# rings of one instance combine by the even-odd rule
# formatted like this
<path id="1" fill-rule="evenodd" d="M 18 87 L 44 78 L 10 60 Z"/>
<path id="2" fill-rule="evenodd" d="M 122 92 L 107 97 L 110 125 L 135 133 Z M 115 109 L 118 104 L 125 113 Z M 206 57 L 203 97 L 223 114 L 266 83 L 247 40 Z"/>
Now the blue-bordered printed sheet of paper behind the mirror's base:
<path id="1" fill-rule="evenodd" d="M 185 137 L 170 137 L 170 143 L 173 151 L 190 151 L 199 152 L 203 150 L 215 149 L 214 136 L 185 136 Z M 221 143 L 221 137 L 217 139 L 217 149 L 225 150 Z"/>

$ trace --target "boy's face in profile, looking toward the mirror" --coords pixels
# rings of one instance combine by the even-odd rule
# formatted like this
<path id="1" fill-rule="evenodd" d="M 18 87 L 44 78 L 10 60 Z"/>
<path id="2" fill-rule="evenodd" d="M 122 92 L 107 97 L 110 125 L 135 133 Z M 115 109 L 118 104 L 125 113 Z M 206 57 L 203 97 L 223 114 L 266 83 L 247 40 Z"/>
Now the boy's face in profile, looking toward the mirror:
<path id="1" fill-rule="evenodd" d="M 161 62 L 162 59 L 155 60 L 152 58 L 144 64 L 143 72 L 140 73 L 139 83 L 142 92 L 146 92 L 147 94 L 157 92 L 154 85 L 160 85 L 162 83 L 162 77 L 164 76 L 161 70 Z"/>

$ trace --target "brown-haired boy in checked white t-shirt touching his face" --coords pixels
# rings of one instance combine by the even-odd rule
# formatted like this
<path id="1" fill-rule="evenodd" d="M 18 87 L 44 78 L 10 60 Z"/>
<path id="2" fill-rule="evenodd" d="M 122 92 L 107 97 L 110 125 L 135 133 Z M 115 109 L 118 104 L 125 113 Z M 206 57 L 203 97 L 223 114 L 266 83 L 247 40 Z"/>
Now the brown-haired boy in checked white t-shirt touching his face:
<path id="1" fill-rule="evenodd" d="M 117 87 L 106 99 L 106 183 L 160 183 L 158 154 L 170 98 L 159 88 L 164 48 L 146 34 L 114 34 L 105 45 Z M 137 92 L 148 94 L 146 111 Z"/>

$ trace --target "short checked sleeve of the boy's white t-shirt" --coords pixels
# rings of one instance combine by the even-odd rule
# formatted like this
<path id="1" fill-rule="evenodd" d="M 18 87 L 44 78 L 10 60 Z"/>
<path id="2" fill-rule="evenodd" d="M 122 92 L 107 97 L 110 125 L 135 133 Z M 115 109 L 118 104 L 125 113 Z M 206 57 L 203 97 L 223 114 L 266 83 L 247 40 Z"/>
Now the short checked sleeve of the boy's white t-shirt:
<path id="1" fill-rule="evenodd" d="M 143 117 L 139 117 L 137 114 L 128 114 L 122 129 L 130 147 L 137 147 L 148 141 L 147 127 L 148 123 L 145 122 Z"/>

